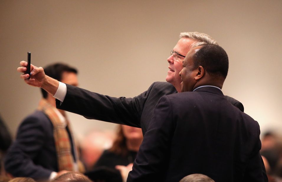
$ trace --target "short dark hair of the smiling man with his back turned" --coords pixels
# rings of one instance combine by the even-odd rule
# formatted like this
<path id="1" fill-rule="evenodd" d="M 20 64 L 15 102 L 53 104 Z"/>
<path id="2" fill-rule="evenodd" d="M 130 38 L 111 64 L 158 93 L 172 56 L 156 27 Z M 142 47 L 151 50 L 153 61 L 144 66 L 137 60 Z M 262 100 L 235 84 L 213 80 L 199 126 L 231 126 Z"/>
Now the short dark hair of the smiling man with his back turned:
<path id="1" fill-rule="evenodd" d="M 222 76 L 228 73 L 228 56 L 219 45 L 203 45 L 194 56 L 193 69 L 202 66 L 211 75 Z"/>

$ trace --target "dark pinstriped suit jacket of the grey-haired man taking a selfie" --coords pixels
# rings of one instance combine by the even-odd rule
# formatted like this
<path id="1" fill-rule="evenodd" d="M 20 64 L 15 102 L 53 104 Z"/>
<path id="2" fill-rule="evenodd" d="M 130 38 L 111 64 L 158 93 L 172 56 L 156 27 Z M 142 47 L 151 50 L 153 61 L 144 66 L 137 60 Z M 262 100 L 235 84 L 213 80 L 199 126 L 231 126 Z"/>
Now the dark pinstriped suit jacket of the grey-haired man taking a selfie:
<path id="1" fill-rule="evenodd" d="M 173 93 L 177 91 L 168 82 L 154 82 L 147 91 L 133 98 L 110 97 L 67 85 L 64 102 L 60 105 L 60 101 L 56 100 L 56 106 L 88 119 L 142 128 L 144 135 L 160 97 Z M 232 97 L 229 100 L 244 111 L 241 102 Z"/>

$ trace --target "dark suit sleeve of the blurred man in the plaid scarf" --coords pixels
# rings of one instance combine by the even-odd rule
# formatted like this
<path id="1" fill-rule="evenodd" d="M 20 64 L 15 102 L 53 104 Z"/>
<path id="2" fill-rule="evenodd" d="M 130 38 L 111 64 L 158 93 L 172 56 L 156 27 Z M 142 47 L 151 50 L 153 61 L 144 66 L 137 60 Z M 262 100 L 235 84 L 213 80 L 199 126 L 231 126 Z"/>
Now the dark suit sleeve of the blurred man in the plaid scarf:
<path id="1" fill-rule="evenodd" d="M 44 127 L 39 118 L 26 118 L 19 126 L 17 138 L 6 154 L 6 171 L 14 177 L 49 178 L 52 171 L 33 163 L 44 145 L 44 140 Z"/>

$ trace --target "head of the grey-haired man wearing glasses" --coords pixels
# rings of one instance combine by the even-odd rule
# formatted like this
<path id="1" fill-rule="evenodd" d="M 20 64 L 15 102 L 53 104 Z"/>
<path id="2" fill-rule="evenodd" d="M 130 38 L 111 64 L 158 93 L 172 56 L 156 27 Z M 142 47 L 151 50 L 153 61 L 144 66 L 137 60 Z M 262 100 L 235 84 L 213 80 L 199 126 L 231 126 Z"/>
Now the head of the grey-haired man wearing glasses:
<path id="1" fill-rule="evenodd" d="M 168 57 L 167 61 L 168 74 L 165 80 L 171 83 L 178 92 L 180 92 L 181 78 L 179 72 L 182 70 L 182 62 L 186 54 L 194 47 L 205 44 L 217 44 L 209 35 L 199 32 L 183 32 L 179 35 L 180 40 L 172 50 L 172 54 Z"/>

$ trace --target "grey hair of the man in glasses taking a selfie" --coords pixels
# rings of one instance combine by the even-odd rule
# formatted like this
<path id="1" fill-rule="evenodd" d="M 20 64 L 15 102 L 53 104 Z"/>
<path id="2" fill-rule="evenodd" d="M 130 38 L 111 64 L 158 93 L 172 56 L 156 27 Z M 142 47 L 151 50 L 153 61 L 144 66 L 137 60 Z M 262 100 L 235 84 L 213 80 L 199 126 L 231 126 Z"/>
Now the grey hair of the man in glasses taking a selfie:
<path id="1" fill-rule="evenodd" d="M 197 47 L 206 44 L 218 45 L 217 41 L 211 38 L 211 36 L 199 32 L 182 32 L 180 33 L 179 38 L 188 38 L 194 40 L 195 42 L 191 44 L 191 47 Z"/>

